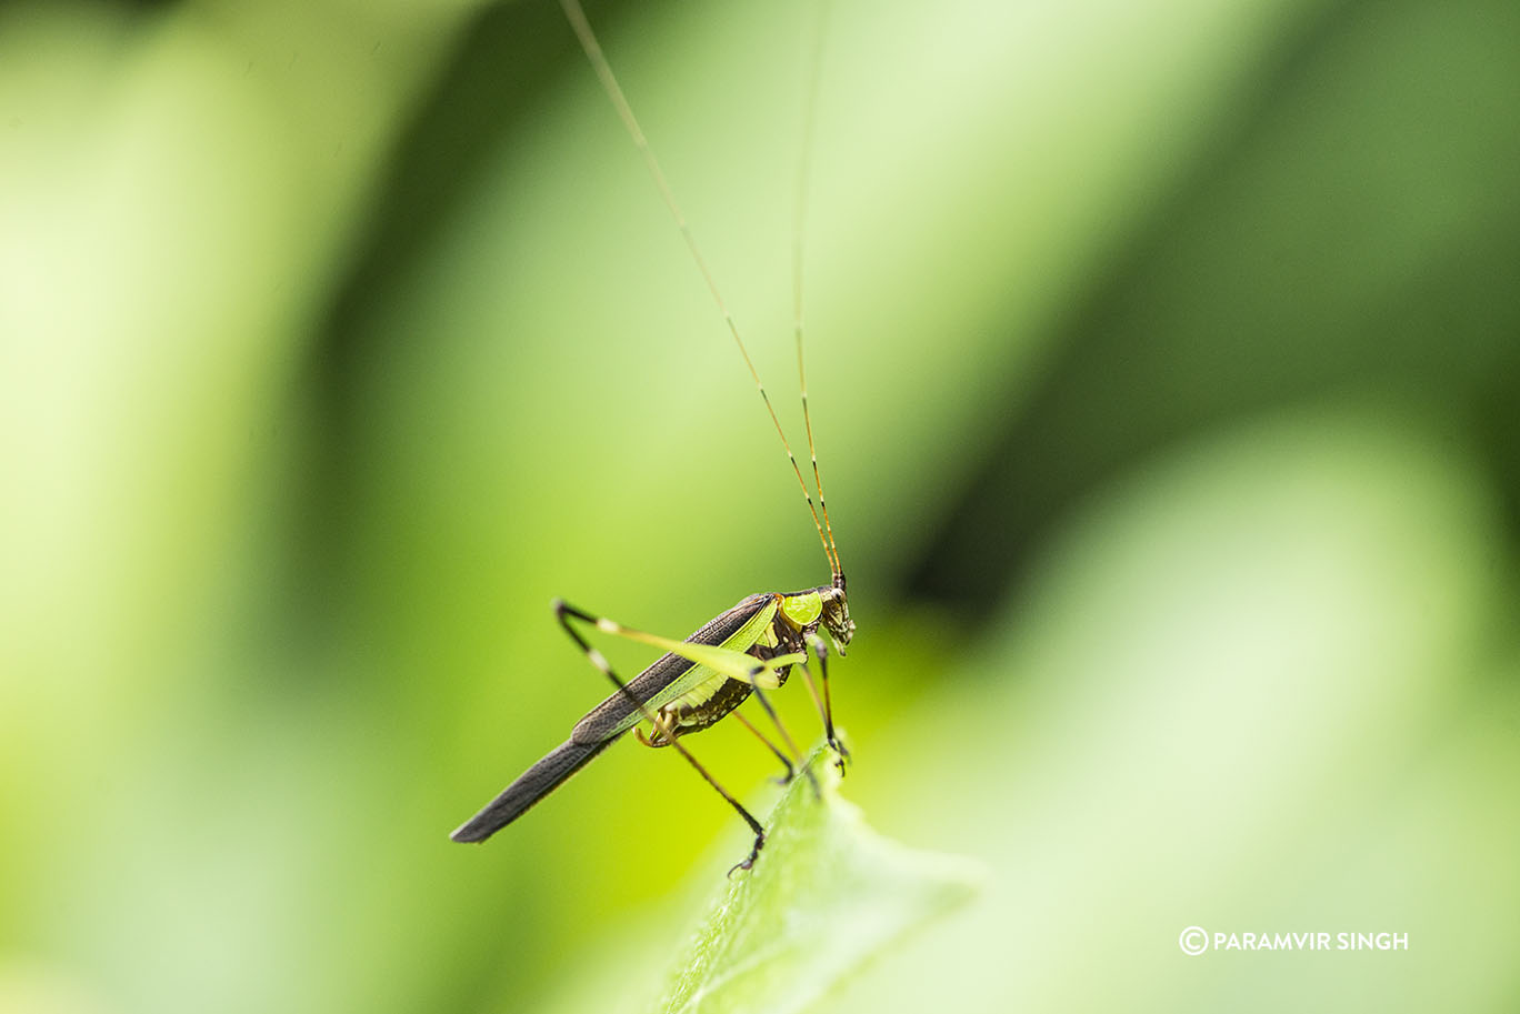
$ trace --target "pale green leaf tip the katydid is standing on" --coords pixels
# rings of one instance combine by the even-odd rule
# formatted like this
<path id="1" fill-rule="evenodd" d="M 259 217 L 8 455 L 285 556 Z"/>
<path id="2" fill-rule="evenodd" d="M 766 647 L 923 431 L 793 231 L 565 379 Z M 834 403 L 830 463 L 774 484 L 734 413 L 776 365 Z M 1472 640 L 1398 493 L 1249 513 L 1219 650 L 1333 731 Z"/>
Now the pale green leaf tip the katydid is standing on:
<path id="1" fill-rule="evenodd" d="M 882 838 L 839 798 L 833 756 L 818 748 L 781 797 L 766 847 L 736 871 L 675 965 L 663 1014 L 809 1009 L 918 926 L 970 900 L 982 868 Z"/>

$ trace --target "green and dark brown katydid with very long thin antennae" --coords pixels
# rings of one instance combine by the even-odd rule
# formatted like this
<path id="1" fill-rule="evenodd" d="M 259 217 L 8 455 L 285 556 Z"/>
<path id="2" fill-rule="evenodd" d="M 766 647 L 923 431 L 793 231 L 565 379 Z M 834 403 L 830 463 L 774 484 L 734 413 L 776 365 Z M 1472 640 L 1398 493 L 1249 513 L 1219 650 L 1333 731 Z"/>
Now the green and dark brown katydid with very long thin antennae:
<path id="1" fill-rule="evenodd" d="M 821 55 L 822 20 L 819 15 L 815 24 L 815 44 L 809 62 L 809 81 L 804 102 L 803 128 L 803 160 L 796 175 L 796 245 L 793 248 L 793 295 L 795 295 L 795 327 L 796 337 L 796 368 L 803 398 L 803 421 L 807 432 L 809 458 L 812 459 L 813 486 L 818 490 L 818 502 L 803 477 L 803 470 L 796 464 L 796 456 L 781 430 L 771 398 L 766 395 L 760 374 L 745 348 L 743 339 L 733 316 L 728 313 L 717 286 L 707 269 L 696 246 L 696 240 L 686 223 L 681 208 L 666 182 L 664 172 L 655 160 L 644 134 L 634 117 L 632 109 L 623 96 L 613 70 L 602 55 L 602 49 L 591 32 L 591 26 L 581 9 L 579 0 L 559 0 L 572 29 L 585 49 L 591 67 L 602 82 L 613 106 L 617 109 L 628 134 L 643 157 L 660 196 L 675 217 L 676 227 L 684 237 L 687 248 L 702 274 L 704 281 L 717 303 L 717 309 L 733 334 L 734 344 L 749 369 L 749 375 L 760 392 L 771 423 L 781 439 L 781 447 L 792 465 L 807 509 L 812 512 L 813 526 L 822 543 L 824 555 L 828 559 L 830 581 L 816 588 L 801 591 L 768 591 L 751 594 L 733 608 L 708 620 L 701 629 L 686 640 L 672 640 L 646 634 L 613 620 L 596 617 L 578 608 L 555 602 L 555 616 L 564 626 L 570 639 L 585 652 L 593 666 L 613 683 L 613 693 L 591 708 L 570 733 L 570 739 L 552 749 L 543 760 L 523 772 L 512 784 L 502 791 L 491 803 L 459 827 L 451 838 L 458 842 L 480 842 L 521 816 L 529 807 L 559 787 L 570 775 L 585 766 L 593 757 L 606 749 L 613 742 L 625 736 L 629 730 L 646 746 L 673 746 L 702 778 L 717 791 L 724 800 L 737 810 L 754 832 L 754 847 L 749 856 L 736 868 L 748 870 L 758 857 L 765 845 L 765 829 L 716 778 L 704 768 L 682 742 L 687 736 L 708 728 L 728 715 L 734 715 L 762 742 L 765 742 L 786 766 L 786 777 L 790 778 L 793 757 L 800 759 L 795 743 L 786 727 L 780 722 L 775 710 L 766 698 L 766 690 L 772 690 L 786 683 L 792 667 L 803 670 L 804 681 L 822 719 L 824 736 L 828 746 L 836 754 L 836 763 L 844 771 L 848 751 L 834 733 L 833 704 L 828 693 L 828 651 L 830 643 L 839 655 L 845 654 L 845 646 L 854 635 L 854 622 L 850 619 L 850 605 L 845 594 L 845 573 L 839 562 L 839 549 L 834 544 L 833 528 L 828 523 L 828 508 L 824 502 L 822 477 L 818 470 L 818 453 L 813 444 L 812 417 L 807 409 L 807 372 L 803 363 L 803 245 L 801 227 L 807 195 L 807 152 L 812 138 L 813 103 L 816 96 L 818 64 Z M 663 649 L 652 666 L 629 681 L 623 681 L 606 658 L 593 648 L 573 623 L 594 626 L 603 634 L 640 642 Z M 827 640 L 825 640 L 827 635 Z M 809 658 L 818 661 L 818 683 L 813 681 L 809 669 Z M 739 715 L 737 708 L 751 695 L 760 702 L 781 734 L 787 751 L 772 743 L 758 728 Z M 646 734 L 641 724 L 649 725 Z M 809 772 L 809 777 L 810 772 Z"/>

